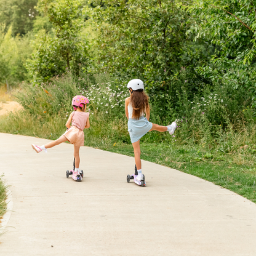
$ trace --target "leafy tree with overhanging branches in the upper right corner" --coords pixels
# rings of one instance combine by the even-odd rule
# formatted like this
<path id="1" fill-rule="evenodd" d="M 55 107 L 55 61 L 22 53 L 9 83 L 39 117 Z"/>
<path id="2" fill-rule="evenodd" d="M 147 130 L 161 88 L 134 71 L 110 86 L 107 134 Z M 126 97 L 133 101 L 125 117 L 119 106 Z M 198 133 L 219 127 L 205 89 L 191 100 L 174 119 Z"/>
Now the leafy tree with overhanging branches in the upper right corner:
<path id="1" fill-rule="evenodd" d="M 255 1 L 196 0 L 183 5 L 198 17 L 191 26 L 196 39 L 215 44 L 212 61 L 198 68 L 199 73 L 231 90 L 249 91 L 249 106 L 256 107 L 256 4 Z M 238 92 L 233 92 L 236 94 Z M 244 95 L 240 95 L 241 98 Z"/>

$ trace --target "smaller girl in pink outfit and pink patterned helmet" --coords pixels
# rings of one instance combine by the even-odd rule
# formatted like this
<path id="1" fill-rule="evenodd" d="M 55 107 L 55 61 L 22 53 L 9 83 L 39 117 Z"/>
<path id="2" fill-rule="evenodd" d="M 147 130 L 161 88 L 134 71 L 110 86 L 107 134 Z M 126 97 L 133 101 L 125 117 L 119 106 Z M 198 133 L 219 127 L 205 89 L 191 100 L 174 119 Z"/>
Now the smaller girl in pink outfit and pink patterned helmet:
<path id="1" fill-rule="evenodd" d="M 80 164 L 80 158 L 79 158 L 79 149 L 80 146 L 84 146 L 84 129 L 87 129 L 90 127 L 89 122 L 89 113 L 86 112 L 86 106 L 87 103 L 89 103 L 89 100 L 81 95 L 77 95 L 72 100 L 72 106 L 74 108 L 74 111 L 70 114 L 70 117 L 68 118 L 68 121 L 66 121 L 66 132 L 60 136 L 57 140 L 54 140 L 54 142 L 49 142 L 46 145 L 42 146 L 36 146 L 32 144 L 33 150 L 36 151 L 36 153 L 41 152 L 44 150 L 45 152 L 47 148 L 52 148 L 53 146 L 59 145 L 62 142 L 66 142 L 67 140 L 74 144 L 74 158 L 75 158 L 75 170 L 74 172 L 78 174 L 79 172 L 79 164 Z M 72 121 L 72 126 L 70 126 L 70 122 Z"/>

